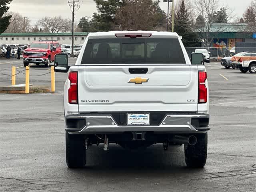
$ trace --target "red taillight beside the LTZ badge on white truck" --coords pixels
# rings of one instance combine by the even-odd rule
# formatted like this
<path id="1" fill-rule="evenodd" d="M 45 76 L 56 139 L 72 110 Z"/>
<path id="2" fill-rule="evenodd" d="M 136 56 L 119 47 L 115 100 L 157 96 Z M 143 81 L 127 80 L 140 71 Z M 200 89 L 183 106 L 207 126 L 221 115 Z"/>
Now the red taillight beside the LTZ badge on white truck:
<path id="1" fill-rule="evenodd" d="M 207 88 L 205 86 L 205 81 L 207 79 L 206 72 L 198 72 L 198 103 L 207 102 Z"/>

